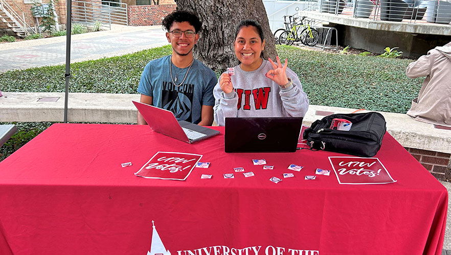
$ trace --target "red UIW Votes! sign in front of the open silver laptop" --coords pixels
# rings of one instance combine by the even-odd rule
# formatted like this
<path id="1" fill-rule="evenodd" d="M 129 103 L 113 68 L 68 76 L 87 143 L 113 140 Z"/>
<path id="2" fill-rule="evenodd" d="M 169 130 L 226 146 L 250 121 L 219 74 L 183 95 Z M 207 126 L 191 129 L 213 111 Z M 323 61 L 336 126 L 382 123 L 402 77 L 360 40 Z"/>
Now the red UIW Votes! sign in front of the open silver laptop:
<path id="1" fill-rule="evenodd" d="M 202 155 L 158 151 L 135 175 L 163 180 L 185 181 Z"/>

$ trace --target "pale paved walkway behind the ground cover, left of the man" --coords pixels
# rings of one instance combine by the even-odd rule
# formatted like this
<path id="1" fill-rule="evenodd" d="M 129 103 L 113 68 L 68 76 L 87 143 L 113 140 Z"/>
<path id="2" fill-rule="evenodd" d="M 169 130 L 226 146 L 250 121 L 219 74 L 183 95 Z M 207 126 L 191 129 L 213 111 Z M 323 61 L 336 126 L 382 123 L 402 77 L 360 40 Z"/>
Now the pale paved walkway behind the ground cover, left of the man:
<path id="1" fill-rule="evenodd" d="M 71 63 L 121 56 L 168 44 L 161 25 L 127 27 L 71 36 Z M 65 64 L 66 37 L 0 44 L 0 72 Z"/>

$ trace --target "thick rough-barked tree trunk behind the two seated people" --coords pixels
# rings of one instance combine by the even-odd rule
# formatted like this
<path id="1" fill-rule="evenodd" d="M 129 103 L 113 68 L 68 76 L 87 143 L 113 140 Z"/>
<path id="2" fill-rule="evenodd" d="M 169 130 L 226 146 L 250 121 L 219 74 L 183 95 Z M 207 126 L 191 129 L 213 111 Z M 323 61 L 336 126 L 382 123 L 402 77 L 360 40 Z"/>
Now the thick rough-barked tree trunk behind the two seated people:
<path id="1" fill-rule="evenodd" d="M 194 57 L 213 70 L 225 70 L 238 64 L 233 42 L 235 29 L 243 19 L 255 19 L 265 36 L 264 58 L 274 59 L 276 46 L 262 0 L 175 0 L 177 10 L 191 11 L 202 21 L 200 39 Z"/>

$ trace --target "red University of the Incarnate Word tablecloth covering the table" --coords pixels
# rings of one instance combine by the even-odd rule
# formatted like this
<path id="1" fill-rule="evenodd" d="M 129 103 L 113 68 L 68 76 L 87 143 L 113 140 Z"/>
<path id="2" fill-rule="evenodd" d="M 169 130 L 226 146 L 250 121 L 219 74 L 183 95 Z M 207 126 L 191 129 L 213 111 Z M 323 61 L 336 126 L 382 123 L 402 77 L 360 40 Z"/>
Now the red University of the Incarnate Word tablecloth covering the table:
<path id="1" fill-rule="evenodd" d="M 172 255 L 441 254 L 447 191 L 389 134 L 375 157 L 397 182 L 340 185 L 333 173 L 304 175 L 345 155 L 226 154 L 216 129 L 186 144 L 143 125 L 52 125 L 0 162 L 0 254 L 144 255 L 152 231 L 152 252 L 167 253 L 159 239 Z M 186 181 L 134 175 L 157 151 L 211 165 Z M 297 162 L 295 177 L 269 181 Z M 255 176 L 224 179 L 233 167 Z"/>

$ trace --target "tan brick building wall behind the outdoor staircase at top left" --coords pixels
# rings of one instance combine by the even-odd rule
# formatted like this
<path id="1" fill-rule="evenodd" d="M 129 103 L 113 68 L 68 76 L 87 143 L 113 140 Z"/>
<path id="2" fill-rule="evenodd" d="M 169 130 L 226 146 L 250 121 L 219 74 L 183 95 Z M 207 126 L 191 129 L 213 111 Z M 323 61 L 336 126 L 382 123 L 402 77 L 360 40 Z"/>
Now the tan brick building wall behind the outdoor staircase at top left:
<path id="1" fill-rule="evenodd" d="M 24 0 L 3 0 L 6 3 L 8 3 L 19 15 L 22 15 L 22 11 L 24 12 L 24 15 L 26 17 L 27 23 L 34 28 L 34 24 L 36 22 L 36 18 L 33 17 L 31 14 L 31 7 L 33 4 L 31 1 L 24 1 Z M 24 3 L 25 2 L 25 3 Z M 42 0 L 42 3 L 49 3 L 50 0 Z M 15 3 L 16 5 L 14 5 Z M 55 3 L 55 1 L 54 1 Z M 59 0 L 58 3 L 55 4 L 55 11 L 58 15 L 58 23 L 59 24 L 65 24 L 66 23 L 66 2 L 65 0 Z M 27 18 L 28 17 L 28 18 Z M 42 18 L 38 18 L 39 24 L 41 22 Z M 6 24 L 4 24 L 0 20 L 0 29 L 8 28 Z"/>

